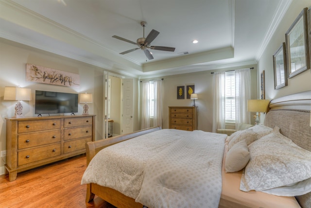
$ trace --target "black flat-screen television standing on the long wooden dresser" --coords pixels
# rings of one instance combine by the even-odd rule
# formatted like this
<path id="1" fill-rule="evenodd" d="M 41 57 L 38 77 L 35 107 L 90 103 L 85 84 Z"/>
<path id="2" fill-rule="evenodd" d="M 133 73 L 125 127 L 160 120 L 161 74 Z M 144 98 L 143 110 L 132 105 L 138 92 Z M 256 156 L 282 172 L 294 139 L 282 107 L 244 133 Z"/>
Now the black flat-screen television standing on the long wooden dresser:
<path id="1" fill-rule="evenodd" d="M 77 112 L 78 94 L 35 90 L 35 114 Z"/>

